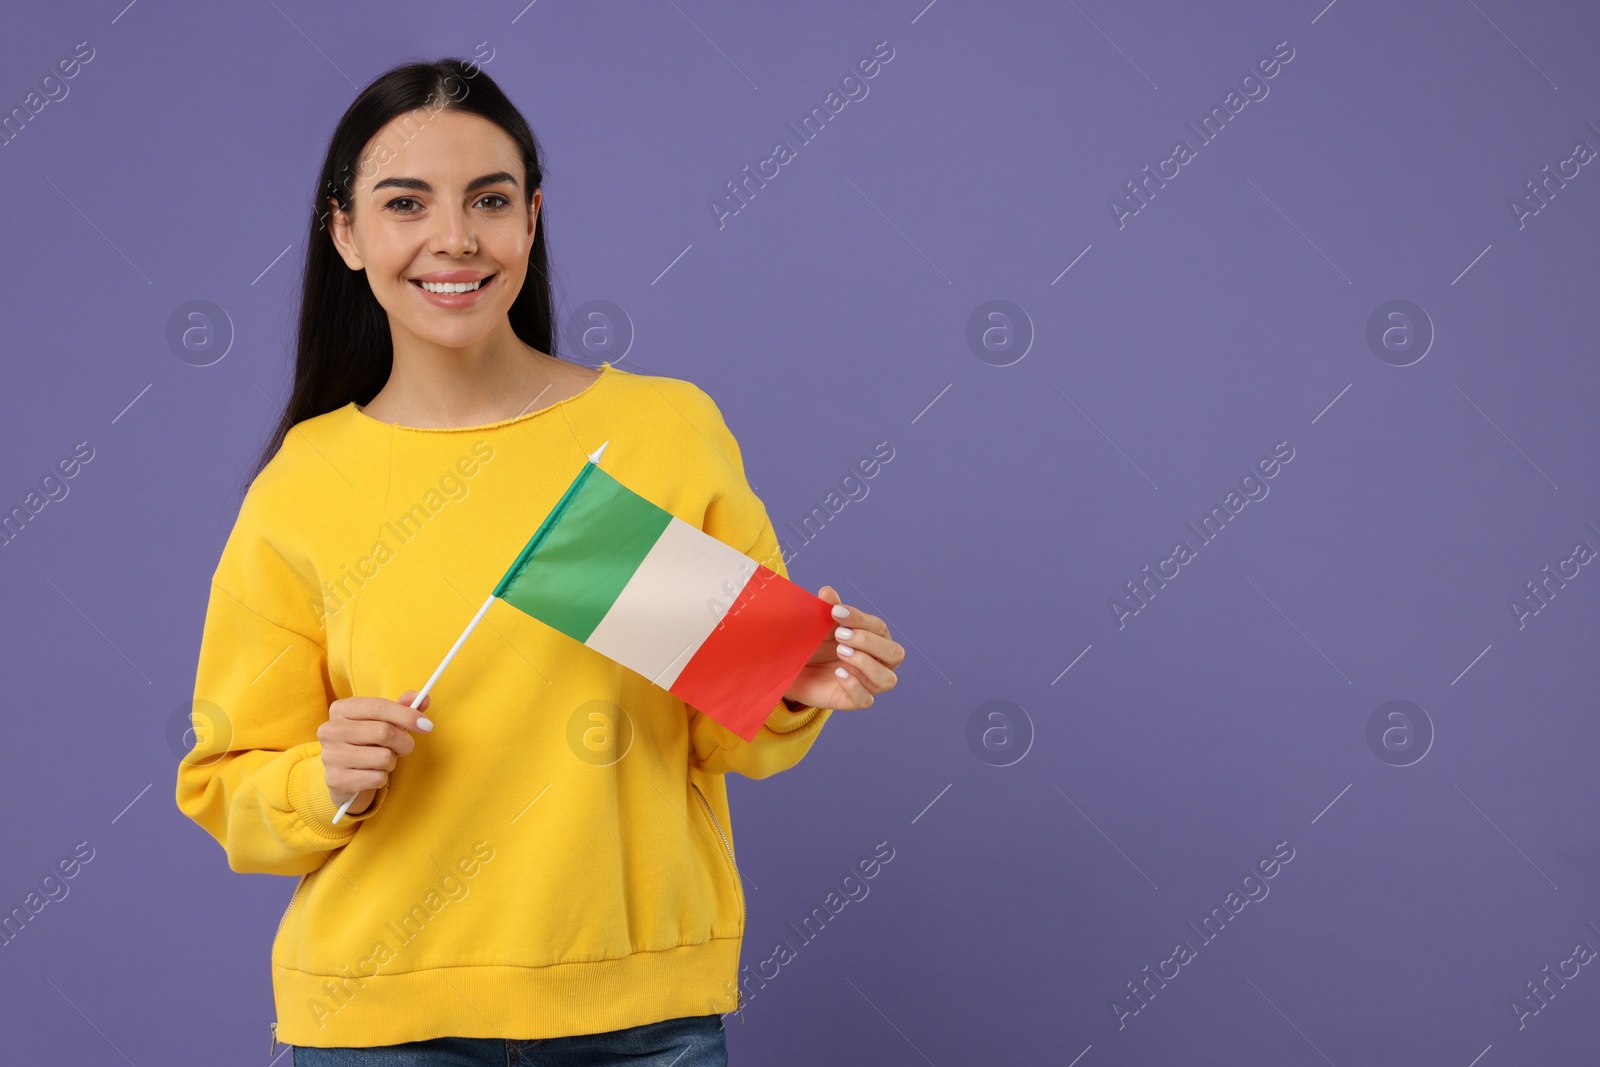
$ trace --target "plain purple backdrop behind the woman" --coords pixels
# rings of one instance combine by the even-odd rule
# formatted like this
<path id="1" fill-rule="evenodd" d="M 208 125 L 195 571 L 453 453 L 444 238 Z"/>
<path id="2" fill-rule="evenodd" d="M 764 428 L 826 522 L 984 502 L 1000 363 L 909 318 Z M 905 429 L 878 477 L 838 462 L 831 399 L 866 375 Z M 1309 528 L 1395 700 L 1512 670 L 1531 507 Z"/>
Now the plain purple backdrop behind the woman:
<path id="1" fill-rule="evenodd" d="M 0 506 L 58 498 L 0 550 L 0 910 L 80 851 L 6 1062 L 269 1059 L 291 880 L 171 723 L 326 138 L 445 54 L 549 154 L 563 354 L 704 387 L 907 646 L 731 781 L 734 1062 L 1594 1062 L 1592 5 L 120 2 L 0 34 Z"/>

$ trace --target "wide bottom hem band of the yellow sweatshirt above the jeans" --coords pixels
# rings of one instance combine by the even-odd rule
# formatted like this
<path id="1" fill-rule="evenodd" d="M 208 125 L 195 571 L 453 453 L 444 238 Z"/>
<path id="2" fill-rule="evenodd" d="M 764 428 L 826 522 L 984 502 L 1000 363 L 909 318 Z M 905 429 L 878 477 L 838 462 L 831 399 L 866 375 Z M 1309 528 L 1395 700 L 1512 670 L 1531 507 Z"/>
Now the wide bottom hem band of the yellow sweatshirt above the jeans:
<path id="1" fill-rule="evenodd" d="M 341 822 L 342 825 L 342 822 Z M 435 1037 L 534 1040 L 733 1011 L 739 937 L 549 966 L 448 966 L 373 977 L 274 966 L 278 1040 L 370 1048 Z"/>

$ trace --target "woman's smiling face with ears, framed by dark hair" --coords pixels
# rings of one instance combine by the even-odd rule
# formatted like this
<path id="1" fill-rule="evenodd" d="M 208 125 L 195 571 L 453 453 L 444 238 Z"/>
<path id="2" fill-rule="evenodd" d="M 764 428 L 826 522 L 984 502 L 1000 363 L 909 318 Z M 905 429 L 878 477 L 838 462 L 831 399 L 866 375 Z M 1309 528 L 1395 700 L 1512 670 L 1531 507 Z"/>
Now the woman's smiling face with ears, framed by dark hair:
<path id="1" fill-rule="evenodd" d="M 506 323 L 539 218 L 541 194 L 530 208 L 523 178 L 517 142 L 478 115 L 421 109 L 378 131 L 355 166 L 352 214 L 330 198 L 330 219 L 392 334 L 459 349 Z M 454 285 L 432 293 L 424 282 Z M 450 291 L 461 283 L 477 288 Z"/>

